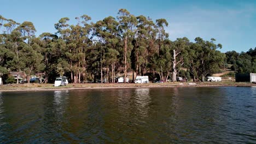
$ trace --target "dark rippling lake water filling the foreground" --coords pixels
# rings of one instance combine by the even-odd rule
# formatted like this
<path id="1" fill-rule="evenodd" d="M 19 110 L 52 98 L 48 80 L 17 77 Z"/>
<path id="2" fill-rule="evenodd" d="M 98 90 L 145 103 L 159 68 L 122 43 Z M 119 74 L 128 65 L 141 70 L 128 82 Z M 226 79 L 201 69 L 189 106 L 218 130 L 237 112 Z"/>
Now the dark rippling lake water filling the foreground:
<path id="1" fill-rule="evenodd" d="M 1 143 L 256 143 L 256 87 L 0 92 Z"/>

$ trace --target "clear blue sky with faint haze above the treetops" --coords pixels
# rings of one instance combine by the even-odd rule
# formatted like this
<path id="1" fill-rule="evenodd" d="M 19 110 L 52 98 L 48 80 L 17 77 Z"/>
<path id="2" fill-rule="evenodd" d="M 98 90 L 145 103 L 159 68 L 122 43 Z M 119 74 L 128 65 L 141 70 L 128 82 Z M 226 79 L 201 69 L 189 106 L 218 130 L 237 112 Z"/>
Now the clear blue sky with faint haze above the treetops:
<path id="1" fill-rule="evenodd" d="M 69 17 L 75 24 L 75 17 L 89 15 L 92 22 L 107 16 L 116 17 L 118 10 L 127 9 L 131 14 L 149 16 L 154 21 L 164 18 L 169 26 L 166 31 L 170 39 L 196 37 L 205 40 L 215 38 L 223 45 L 222 52 L 248 51 L 256 47 L 256 1 L 68 1 L 68 0 L 9 0 L 1 1 L 0 15 L 16 22 L 31 21 L 43 32 L 55 33 L 54 23 L 61 17 Z"/>

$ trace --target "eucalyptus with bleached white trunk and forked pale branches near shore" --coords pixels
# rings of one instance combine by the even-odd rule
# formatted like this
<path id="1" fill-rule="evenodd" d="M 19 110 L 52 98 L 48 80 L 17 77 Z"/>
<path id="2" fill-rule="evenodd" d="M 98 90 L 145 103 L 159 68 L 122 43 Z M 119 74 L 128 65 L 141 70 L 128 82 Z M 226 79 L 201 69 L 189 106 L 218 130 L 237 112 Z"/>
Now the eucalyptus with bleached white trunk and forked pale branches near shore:
<path id="1" fill-rule="evenodd" d="M 189 44 L 188 38 L 177 38 L 172 45 L 172 81 L 177 81 L 176 76 L 178 69 L 177 67 L 181 68 L 184 64 L 184 58 L 187 58 L 188 52 L 187 47 Z"/>

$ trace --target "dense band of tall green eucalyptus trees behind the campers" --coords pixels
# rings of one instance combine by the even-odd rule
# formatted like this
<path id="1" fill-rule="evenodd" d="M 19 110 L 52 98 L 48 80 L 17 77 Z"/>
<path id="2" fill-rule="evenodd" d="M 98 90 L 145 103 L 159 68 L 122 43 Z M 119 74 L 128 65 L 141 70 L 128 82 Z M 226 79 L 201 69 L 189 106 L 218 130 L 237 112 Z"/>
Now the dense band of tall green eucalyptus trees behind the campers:
<path id="1" fill-rule="evenodd" d="M 234 64 L 239 73 L 255 71 L 255 49 L 247 53 L 222 53 L 215 39 L 168 39 L 165 19 L 155 22 L 149 17 L 134 16 L 126 9 L 117 18 L 106 17 L 96 23 L 91 17 L 75 17 L 69 24 L 63 17 L 55 23 L 56 33 L 34 34 L 32 22 L 23 23 L 0 15 L 0 73 L 16 71 L 44 77 L 53 82 L 67 76 L 74 83 L 101 80 L 114 82 L 117 74 L 151 75 L 176 81 L 177 75 L 204 81 L 219 71 L 220 65 Z M 227 56 L 227 57 L 226 57 Z M 18 80 L 17 80 L 18 83 Z"/>

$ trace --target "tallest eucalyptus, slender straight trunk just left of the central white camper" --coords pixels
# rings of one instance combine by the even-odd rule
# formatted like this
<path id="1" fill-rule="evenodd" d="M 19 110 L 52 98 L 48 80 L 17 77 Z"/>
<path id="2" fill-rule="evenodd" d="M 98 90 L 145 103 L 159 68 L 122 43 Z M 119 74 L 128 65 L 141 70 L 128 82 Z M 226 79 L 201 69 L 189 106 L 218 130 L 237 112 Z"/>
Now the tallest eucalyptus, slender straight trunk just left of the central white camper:
<path id="1" fill-rule="evenodd" d="M 130 55 L 132 50 L 132 40 L 135 38 L 137 19 L 126 9 L 119 9 L 119 35 L 124 43 L 124 77 L 126 82 L 127 69 L 129 68 Z"/>

